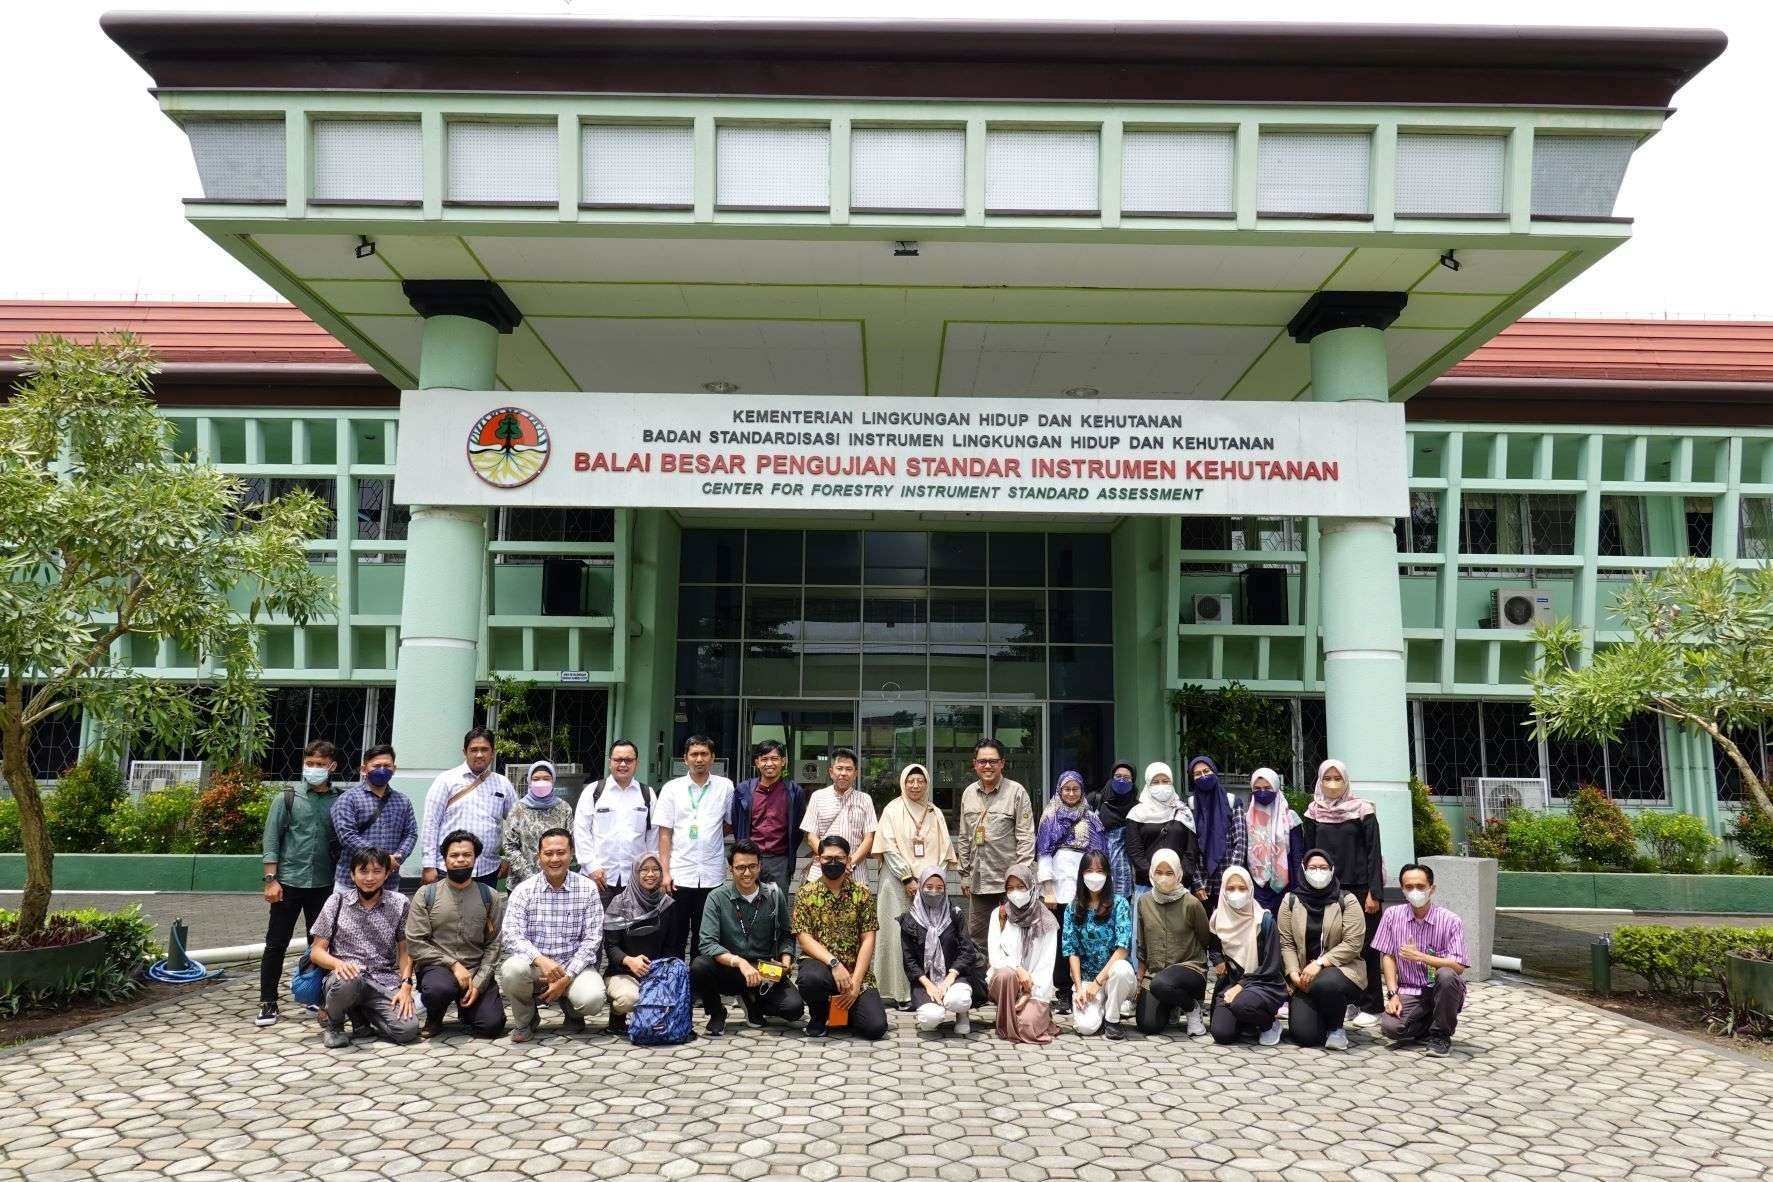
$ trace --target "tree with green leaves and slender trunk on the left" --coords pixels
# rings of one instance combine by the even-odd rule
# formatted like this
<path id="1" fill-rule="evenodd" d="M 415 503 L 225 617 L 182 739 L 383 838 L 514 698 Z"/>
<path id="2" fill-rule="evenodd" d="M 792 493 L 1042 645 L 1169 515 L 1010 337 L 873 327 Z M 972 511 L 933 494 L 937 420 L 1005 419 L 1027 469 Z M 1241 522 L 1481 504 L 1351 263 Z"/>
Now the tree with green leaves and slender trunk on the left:
<path id="1" fill-rule="evenodd" d="M 0 406 L 0 766 L 25 847 L 20 930 L 32 934 L 53 886 L 35 728 L 83 711 L 113 746 L 142 737 L 255 758 L 269 743 L 261 626 L 324 618 L 335 581 L 305 553 L 328 516 L 316 496 L 254 502 L 239 477 L 174 454 L 142 340 L 41 337 L 23 360 L 30 376 Z M 170 642 L 202 684 L 138 673 L 137 638 Z"/>

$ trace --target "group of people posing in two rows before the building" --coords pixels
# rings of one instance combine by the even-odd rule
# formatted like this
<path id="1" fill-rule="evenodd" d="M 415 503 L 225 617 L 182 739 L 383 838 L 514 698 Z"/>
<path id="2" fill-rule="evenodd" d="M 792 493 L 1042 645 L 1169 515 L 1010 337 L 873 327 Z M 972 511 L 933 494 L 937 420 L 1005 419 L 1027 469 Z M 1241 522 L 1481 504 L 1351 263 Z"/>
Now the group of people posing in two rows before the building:
<path id="1" fill-rule="evenodd" d="M 479 1037 L 502 1035 L 509 1007 L 512 1042 L 535 1037 L 541 1005 L 567 1031 L 608 1012 L 622 1033 L 676 989 L 684 1012 L 700 1001 L 711 1037 L 732 996 L 750 1026 L 805 1015 L 812 1037 L 881 1038 L 888 1005 L 920 1031 L 965 1035 L 991 1005 L 1016 1042 L 1050 1042 L 1069 1014 L 1078 1035 L 1113 1040 L 1126 1024 L 1160 1035 L 1181 1023 L 1220 1044 L 1289 1033 L 1346 1049 L 1351 1024 L 1378 1024 L 1449 1053 L 1463 925 L 1417 863 L 1399 872 L 1404 902 L 1381 914 L 1378 817 L 1340 760 L 1319 767 L 1303 817 L 1271 769 L 1241 801 L 1207 757 L 1188 762 L 1186 790 L 1161 762 L 1136 790 L 1131 764 L 1097 792 L 1066 771 L 1037 815 L 984 739 L 957 836 L 920 764 L 876 815 L 847 748 L 814 792 L 785 778 L 775 741 L 738 785 L 713 760 L 713 743 L 691 737 L 686 774 L 654 790 L 635 778 L 635 744 L 617 741 L 573 806 L 548 762 L 519 794 L 475 728 L 418 817 L 390 787 L 392 748 L 365 751 L 360 782 L 333 794 L 337 751 L 309 744 L 303 783 L 266 817 L 257 1021 L 277 1021 L 300 914 L 324 973 L 328 1046 L 349 1042 L 348 1024 L 434 1037 L 450 1007 Z M 415 847 L 408 898 L 399 872 Z"/>

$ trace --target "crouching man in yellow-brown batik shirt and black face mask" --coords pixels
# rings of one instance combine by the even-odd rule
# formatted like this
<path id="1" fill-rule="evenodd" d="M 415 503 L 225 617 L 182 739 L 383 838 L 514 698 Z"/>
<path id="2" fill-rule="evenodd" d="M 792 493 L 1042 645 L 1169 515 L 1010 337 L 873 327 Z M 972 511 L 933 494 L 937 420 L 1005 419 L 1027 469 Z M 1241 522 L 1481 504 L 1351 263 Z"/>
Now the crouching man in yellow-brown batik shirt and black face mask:
<path id="1" fill-rule="evenodd" d="M 886 1037 L 886 1005 L 874 987 L 874 934 L 879 916 L 869 888 L 849 877 L 849 842 L 830 835 L 814 861 L 819 877 L 794 897 L 793 929 L 800 941 L 800 996 L 807 1033 L 828 1033 L 832 1007 L 860 1038 Z"/>

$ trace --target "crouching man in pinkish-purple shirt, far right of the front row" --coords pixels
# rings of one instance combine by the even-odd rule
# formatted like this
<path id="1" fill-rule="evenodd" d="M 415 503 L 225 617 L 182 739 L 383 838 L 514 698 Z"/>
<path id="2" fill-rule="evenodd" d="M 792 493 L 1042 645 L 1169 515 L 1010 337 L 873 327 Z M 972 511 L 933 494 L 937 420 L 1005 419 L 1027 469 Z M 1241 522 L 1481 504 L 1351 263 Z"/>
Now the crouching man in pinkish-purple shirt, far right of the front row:
<path id="1" fill-rule="evenodd" d="M 1434 902 L 1434 870 L 1410 863 L 1397 872 L 1404 902 L 1385 909 L 1372 948 L 1385 973 L 1379 1030 L 1399 1042 L 1429 1040 L 1429 1054 L 1452 1054 L 1464 1008 L 1464 921 Z"/>

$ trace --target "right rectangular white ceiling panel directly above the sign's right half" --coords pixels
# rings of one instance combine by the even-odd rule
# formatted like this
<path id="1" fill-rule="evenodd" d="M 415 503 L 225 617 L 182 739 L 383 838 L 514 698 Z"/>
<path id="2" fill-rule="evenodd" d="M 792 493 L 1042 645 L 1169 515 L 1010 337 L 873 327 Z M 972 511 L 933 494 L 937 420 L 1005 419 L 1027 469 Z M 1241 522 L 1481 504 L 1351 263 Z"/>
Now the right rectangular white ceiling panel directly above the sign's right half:
<path id="1" fill-rule="evenodd" d="M 949 324 L 947 397 L 1222 399 L 1273 340 L 1271 328 L 1175 324 Z"/>

